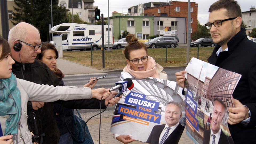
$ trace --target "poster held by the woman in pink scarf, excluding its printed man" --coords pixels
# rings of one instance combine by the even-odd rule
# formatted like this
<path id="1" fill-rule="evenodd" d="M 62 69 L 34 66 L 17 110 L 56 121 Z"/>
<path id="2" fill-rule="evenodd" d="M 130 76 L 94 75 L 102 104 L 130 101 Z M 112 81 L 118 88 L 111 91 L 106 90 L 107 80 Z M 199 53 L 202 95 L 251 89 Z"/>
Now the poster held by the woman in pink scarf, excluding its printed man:
<path id="1" fill-rule="evenodd" d="M 179 119 L 182 125 L 179 132 L 182 134 L 186 124 L 185 95 L 182 95 L 182 88 L 176 82 L 153 77 L 137 79 L 122 72 L 120 80 L 125 78 L 132 79 L 134 87 L 129 94 L 122 96 L 115 107 L 110 129 L 112 133 L 132 135 L 131 138 L 137 141 L 147 142 L 154 126 L 166 124 L 166 104 L 177 101 L 182 104 L 183 115 Z"/>

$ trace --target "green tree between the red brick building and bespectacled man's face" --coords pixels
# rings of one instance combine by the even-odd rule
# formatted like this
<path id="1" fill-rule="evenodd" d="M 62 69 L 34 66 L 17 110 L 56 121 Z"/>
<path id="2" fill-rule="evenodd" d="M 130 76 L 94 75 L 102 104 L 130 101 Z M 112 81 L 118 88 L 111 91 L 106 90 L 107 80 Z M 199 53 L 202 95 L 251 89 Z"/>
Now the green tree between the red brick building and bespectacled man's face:
<path id="1" fill-rule="evenodd" d="M 199 38 L 205 38 L 209 32 L 210 30 L 207 29 L 205 25 L 201 25 L 201 23 L 197 20 L 197 31 L 192 34 L 191 39 L 197 40 Z"/>

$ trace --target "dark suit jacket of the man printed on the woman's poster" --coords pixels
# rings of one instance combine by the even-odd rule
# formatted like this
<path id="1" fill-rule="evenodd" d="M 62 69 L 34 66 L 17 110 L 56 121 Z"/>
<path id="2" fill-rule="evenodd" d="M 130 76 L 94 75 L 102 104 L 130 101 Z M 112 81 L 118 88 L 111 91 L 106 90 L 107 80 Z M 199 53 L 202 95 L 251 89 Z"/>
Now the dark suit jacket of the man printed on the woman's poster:
<path id="1" fill-rule="evenodd" d="M 154 126 L 146 143 L 158 144 L 160 134 L 162 133 L 164 128 L 165 128 L 165 124 Z M 179 139 L 181 138 L 184 128 L 185 127 L 182 126 L 181 123 L 179 123 L 179 125 L 176 127 L 176 129 L 169 135 L 169 137 L 165 140 L 165 142 L 163 144 L 178 143 Z"/>

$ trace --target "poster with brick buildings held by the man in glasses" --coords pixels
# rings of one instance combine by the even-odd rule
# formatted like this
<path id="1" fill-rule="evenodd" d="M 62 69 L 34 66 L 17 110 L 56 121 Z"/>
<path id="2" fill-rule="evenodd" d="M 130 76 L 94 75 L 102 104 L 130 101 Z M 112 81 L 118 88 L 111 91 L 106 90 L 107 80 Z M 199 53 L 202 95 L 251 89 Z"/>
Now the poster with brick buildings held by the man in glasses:
<path id="1" fill-rule="evenodd" d="M 186 67 L 186 133 L 195 143 L 234 143 L 227 125 L 228 107 L 240 74 L 192 58 Z"/>

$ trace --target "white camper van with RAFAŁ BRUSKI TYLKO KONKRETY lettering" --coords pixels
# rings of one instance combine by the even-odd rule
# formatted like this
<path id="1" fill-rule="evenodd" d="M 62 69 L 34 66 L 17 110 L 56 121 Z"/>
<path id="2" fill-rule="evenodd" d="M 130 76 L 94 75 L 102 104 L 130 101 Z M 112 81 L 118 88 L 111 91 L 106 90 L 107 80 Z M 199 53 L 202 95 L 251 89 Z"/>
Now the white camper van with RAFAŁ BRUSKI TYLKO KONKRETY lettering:
<path id="1" fill-rule="evenodd" d="M 113 45 L 113 26 L 109 26 L 109 46 Z M 93 50 L 101 49 L 102 33 L 101 25 L 84 25 L 78 23 L 62 23 L 54 26 L 50 33 L 62 36 L 63 50 Z M 53 43 L 53 42 L 51 42 Z M 108 26 L 104 25 L 104 48 L 108 47 Z"/>

